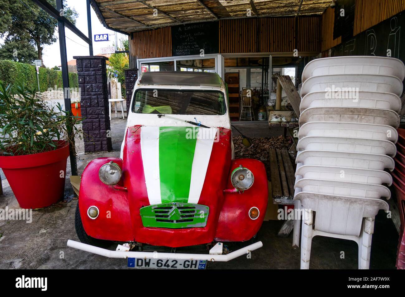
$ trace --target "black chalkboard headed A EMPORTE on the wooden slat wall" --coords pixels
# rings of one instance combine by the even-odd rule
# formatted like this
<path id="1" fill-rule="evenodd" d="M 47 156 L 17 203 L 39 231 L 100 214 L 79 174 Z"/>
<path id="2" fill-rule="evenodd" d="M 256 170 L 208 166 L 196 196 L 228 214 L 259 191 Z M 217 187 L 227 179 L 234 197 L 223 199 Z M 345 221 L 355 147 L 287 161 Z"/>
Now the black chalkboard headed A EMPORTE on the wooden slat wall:
<path id="1" fill-rule="evenodd" d="M 190 23 L 173 26 L 173 56 L 216 54 L 219 52 L 219 22 Z"/>

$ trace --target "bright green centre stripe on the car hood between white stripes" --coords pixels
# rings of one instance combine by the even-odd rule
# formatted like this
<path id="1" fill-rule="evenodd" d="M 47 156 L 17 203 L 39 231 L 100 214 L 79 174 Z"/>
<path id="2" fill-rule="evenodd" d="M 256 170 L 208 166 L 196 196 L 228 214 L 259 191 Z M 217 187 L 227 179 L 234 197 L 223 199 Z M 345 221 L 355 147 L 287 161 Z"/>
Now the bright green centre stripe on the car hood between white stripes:
<path id="1" fill-rule="evenodd" d="M 159 173 L 162 203 L 188 202 L 198 128 L 159 128 Z"/>

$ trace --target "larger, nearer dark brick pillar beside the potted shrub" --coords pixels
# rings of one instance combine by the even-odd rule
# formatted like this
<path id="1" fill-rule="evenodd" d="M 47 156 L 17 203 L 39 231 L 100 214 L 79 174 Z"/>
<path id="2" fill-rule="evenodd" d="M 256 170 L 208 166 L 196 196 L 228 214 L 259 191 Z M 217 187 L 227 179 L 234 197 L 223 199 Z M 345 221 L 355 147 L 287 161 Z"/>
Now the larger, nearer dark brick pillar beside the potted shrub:
<path id="1" fill-rule="evenodd" d="M 106 61 L 103 56 L 79 56 L 76 59 L 81 115 L 83 116 L 84 151 L 112 150 L 108 108 Z M 108 136 L 108 137 L 107 137 Z"/>

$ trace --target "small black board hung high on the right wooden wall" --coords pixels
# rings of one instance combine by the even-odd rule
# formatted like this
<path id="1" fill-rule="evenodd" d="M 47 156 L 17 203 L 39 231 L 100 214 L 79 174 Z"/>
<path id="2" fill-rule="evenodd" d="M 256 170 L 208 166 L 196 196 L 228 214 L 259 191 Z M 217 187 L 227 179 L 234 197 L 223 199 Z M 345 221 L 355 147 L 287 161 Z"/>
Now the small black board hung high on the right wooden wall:
<path id="1" fill-rule="evenodd" d="M 353 36 L 355 9 L 356 0 L 336 1 L 333 39 L 336 39 L 339 36 L 342 36 L 343 39 Z"/>

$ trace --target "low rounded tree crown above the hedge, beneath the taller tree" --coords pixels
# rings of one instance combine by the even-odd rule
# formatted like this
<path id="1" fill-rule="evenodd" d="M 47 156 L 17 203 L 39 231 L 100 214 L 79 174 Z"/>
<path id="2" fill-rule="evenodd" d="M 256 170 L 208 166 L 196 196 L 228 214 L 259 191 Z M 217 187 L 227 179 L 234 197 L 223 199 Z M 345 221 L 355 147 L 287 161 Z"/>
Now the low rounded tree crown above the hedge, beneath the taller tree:
<path id="1" fill-rule="evenodd" d="M 0 47 L 0 60 L 32 64 L 36 57 L 37 52 L 34 46 L 24 40 L 6 40 Z"/>

